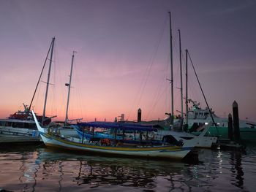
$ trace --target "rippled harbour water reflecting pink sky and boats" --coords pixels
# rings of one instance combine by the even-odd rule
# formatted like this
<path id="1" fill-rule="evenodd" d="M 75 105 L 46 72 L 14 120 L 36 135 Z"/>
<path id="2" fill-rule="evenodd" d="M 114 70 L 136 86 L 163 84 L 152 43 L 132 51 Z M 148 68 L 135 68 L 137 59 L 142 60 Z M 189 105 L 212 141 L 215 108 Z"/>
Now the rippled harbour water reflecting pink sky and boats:
<path id="1" fill-rule="evenodd" d="M 256 147 L 201 150 L 198 164 L 0 147 L 7 191 L 256 191 Z M 0 190 L 1 191 L 1 190 Z"/>

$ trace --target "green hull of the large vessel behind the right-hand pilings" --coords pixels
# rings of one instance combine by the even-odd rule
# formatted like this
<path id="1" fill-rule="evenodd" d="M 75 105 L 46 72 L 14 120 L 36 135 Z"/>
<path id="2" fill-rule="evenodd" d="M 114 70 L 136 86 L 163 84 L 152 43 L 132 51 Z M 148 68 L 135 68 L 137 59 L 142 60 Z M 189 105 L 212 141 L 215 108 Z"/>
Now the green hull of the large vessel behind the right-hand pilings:
<path id="1" fill-rule="evenodd" d="M 200 134 L 200 132 L 192 132 L 192 134 Z M 228 128 L 210 126 L 207 135 L 228 139 Z M 240 128 L 240 137 L 245 142 L 256 142 L 256 128 Z"/>

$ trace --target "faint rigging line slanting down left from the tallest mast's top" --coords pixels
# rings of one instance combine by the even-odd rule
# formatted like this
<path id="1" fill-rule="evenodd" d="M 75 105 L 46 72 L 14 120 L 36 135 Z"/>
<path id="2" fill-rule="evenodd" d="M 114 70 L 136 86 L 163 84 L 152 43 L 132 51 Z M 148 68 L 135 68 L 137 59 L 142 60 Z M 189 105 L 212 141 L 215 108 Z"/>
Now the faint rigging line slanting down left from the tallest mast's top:
<path id="1" fill-rule="evenodd" d="M 150 59 L 150 62 L 149 62 L 150 65 L 147 67 L 148 70 L 147 70 L 147 71 L 144 73 L 144 75 L 143 75 L 143 81 L 142 81 L 141 84 L 140 84 L 140 88 L 139 88 L 139 90 L 138 90 L 138 94 L 135 96 L 135 100 L 133 101 L 132 108 L 129 110 L 129 115 L 128 115 L 128 118 L 127 118 L 127 119 L 129 119 L 129 116 L 130 116 L 130 114 L 131 114 L 131 112 L 132 112 L 132 110 L 133 110 L 133 108 L 134 108 L 134 106 L 135 106 L 135 101 L 136 101 L 138 95 L 140 95 L 140 99 L 138 100 L 138 105 L 140 104 L 141 98 L 142 98 L 142 96 L 143 96 L 144 89 L 145 89 L 145 87 L 146 87 L 146 82 L 148 81 L 148 76 L 149 76 L 149 74 L 150 74 L 150 72 L 151 72 L 151 67 L 152 67 L 152 65 L 153 65 L 153 63 L 154 63 L 155 55 L 157 55 L 157 52 L 158 52 L 158 49 L 159 49 L 159 44 L 160 44 L 160 42 L 161 42 L 161 40 L 162 40 L 162 36 L 163 36 L 163 34 L 164 34 L 164 31 L 165 31 L 165 26 L 166 26 L 166 23 L 167 23 L 167 19 L 168 19 L 168 17 L 167 17 L 167 15 L 166 15 L 166 17 L 165 17 L 165 22 L 164 22 L 164 24 L 163 24 L 163 26 L 162 26 L 162 30 L 159 32 L 160 37 L 159 37 L 159 40 L 158 40 L 158 42 L 157 42 L 157 48 L 156 48 L 156 50 L 154 50 L 154 54 L 153 54 L 154 56 L 152 56 L 151 59 Z M 145 79 L 145 80 L 144 80 L 144 79 Z M 143 88 L 141 89 L 141 87 L 143 87 Z M 142 91 L 140 91 L 140 90 L 142 90 Z M 141 93 L 140 93 L 140 92 L 141 92 Z"/>

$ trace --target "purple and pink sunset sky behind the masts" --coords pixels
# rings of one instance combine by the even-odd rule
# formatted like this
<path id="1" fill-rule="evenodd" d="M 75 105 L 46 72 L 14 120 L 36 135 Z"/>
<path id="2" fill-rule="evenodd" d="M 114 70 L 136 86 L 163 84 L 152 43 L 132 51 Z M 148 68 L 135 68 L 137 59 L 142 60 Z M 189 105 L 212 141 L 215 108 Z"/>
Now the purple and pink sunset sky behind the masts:
<path id="1" fill-rule="evenodd" d="M 136 120 L 139 107 L 143 120 L 165 118 L 170 112 L 169 11 L 175 110 L 181 110 L 180 29 L 183 80 L 188 49 L 216 114 L 227 117 L 236 100 L 239 117 L 256 121 L 254 0 L 1 0 L 0 118 L 30 103 L 53 37 L 48 116 L 64 118 L 64 84 L 75 50 L 69 119 L 112 121 L 123 113 L 125 119 Z M 47 72 L 48 65 L 42 81 Z M 45 82 L 40 82 L 32 104 L 38 114 L 44 96 Z M 191 64 L 189 98 L 206 107 Z"/>

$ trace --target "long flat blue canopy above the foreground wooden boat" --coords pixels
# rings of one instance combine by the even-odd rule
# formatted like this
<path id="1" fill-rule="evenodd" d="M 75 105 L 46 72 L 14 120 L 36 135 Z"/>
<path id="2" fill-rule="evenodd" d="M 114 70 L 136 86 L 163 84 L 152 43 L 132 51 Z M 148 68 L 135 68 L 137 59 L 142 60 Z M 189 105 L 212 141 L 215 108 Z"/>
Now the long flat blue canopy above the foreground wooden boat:
<path id="1" fill-rule="evenodd" d="M 118 123 L 118 122 L 88 122 L 78 123 L 79 126 L 89 126 L 98 128 L 118 128 L 121 130 L 137 130 L 137 131 L 157 131 L 157 128 L 153 128 L 151 125 L 140 125 L 137 123 Z"/>

